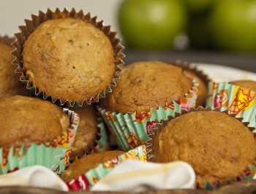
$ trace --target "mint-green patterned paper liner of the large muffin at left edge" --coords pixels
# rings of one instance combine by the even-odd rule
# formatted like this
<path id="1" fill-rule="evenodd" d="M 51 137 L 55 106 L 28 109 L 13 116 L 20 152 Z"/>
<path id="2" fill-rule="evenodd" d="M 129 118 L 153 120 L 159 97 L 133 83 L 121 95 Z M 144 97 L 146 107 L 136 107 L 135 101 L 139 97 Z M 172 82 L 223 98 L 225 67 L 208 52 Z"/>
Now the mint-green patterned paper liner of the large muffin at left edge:
<path id="1" fill-rule="evenodd" d="M 71 125 L 53 142 L 34 144 L 21 147 L 0 148 L 0 174 L 7 174 L 20 168 L 42 165 L 56 174 L 61 174 L 69 163 L 69 156 L 78 128 L 79 117 L 75 112 L 64 109 Z"/>

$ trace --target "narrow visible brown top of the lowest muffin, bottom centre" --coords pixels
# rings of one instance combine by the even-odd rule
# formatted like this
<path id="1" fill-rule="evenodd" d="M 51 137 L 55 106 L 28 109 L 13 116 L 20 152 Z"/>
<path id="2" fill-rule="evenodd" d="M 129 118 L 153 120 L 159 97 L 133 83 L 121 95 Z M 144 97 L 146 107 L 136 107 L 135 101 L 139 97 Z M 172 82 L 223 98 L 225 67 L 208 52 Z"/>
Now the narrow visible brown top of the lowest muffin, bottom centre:
<path id="1" fill-rule="evenodd" d="M 78 178 L 81 174 L 85 174 L 87 171 L 91 170 L 91 168 L 97 167 L 100 163 L 105 163 L 124 153 L 125 152 L 113 150 L 86 155 L 70 164 L 69 168 L 61 174 L 61 178 L 65 182 L 69 182 L 72 179 Z"/>

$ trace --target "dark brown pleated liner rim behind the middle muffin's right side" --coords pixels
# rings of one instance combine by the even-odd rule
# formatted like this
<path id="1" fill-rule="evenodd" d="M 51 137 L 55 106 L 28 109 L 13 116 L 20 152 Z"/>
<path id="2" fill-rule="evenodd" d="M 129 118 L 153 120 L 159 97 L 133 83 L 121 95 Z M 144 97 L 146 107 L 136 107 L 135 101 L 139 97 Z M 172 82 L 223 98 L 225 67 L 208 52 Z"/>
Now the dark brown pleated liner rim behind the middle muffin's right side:
<path id="1" fill-rule="evenodd" d="M 197 77 L 199 77 L 205 83 L 206 88 L 208 87 L 208 82 L 211 82 L 211 79 L 208 77 L 208 75 L 206 73 L 204 73 L 203 71 L 197 69 L 197 66 L 193 65 L 192 63 L 189 63 L 187 61 L 177 60 L 171 64 L 173 64 L 174 66 L 179 66 L 184 70 L 191 71 L 193 74 L 195 74 Z M 200 88 L 200 85 L 199 85 L 199 88 Z M 201 104 L 201 105 L 202 106 L 206 105 L 206 98 L 205 98 L 204 104 Z"/>

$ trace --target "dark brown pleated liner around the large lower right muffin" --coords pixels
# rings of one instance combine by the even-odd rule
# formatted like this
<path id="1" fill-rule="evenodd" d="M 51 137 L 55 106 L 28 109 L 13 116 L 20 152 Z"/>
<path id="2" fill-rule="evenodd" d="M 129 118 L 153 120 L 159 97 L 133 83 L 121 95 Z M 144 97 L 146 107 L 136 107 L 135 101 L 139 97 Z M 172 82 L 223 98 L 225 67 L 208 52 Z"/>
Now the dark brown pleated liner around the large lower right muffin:
<path id="1" fill-rule="evenodd" d="M 206 108 L 203 108 L 203 106 L 198 106 L 197 109 L 192 108 L 192 109 L 190 109 L 189 112 L 197 112 L 197 111 L 217 111 L 217 112 L 220 112 L 219 109 L 211 109 L 211 107 L 209 107 L 209 106 L 206 107 Z M 154 125 L 154 128 L 151 128 L 151 131 L 148 135 L 148 141 L 146 141 L 146 155 L 147 155 L 147 158 L 148 158 L 149 162 L 154 162 L 155 161 L 153 144 L 154 144 L 154 139 L 157 137 L 157 134 L 160 133 L 165 128 L 165 125 L 167 125 L 167 123 L 170 120 L 173 120 L 176 117 L 179 117 L 180 115 L 184 115 L 184 114 L 187 114 L 187 113 L 188 112 L 185 112 L 185 111 L 182 111 L 181 113 L 176 113 L 174 117 L 168 117 L 167 120 L 161 120 L 160 123 L 157 123 L 156 125 Z M 230 115 L 226 111 L 223 112 L 223 113 L 225 113 L 227 115 Z M 230 117 L 235 117 L 235 115 L 230 115 Z M 254 137 L 256 136 L 256 133 L 253 132 L 253 130 L 255 128 L 249 127 L 248 123 L 242 122 L 241 121 L 241 120 L 243 120 L 242 118 L 236 118 L 236 120 L 239 120 L 241 123 L 243 123 L 244 126 L 246 126 L 246 128 L 248 128 L 249 131 L 252 131 Z M 240 181 L 243 181 L 243 180 L 252 179 L 253 176 L 255 175 L 255 173 L 256 173 L 256 166 L 254 166 L 252 164 L 249 164 L 248 168 L 244 169 L 244 171 L 241 172 L 242 175 L 238 175 L 235 178 L 227 177 L 225 179 L 225 181 L 223 181 L 223 182 L 220 181 L 219 179 L 217 179 L 214 184 L 211 184 L 210 182 L 206 181 L 204 185 L 199 185 L 198 182 L 195 182 L 195 186 L 197 188 L 203 188 L 205 190 L 214 190 L 217 187 L 222 187 L 223 185 L 228 185 L 228 184 L 233 183 L 233 182 L 240 182 Z"/>

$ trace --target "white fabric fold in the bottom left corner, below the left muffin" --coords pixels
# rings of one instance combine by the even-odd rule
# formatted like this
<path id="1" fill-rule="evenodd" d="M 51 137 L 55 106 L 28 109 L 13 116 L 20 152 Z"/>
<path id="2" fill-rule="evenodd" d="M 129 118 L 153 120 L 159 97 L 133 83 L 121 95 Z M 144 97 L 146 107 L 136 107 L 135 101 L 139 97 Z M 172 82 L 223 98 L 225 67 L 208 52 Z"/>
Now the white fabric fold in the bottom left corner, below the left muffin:
<path id="1" fill-rule="evenodd" d="M 44 166 L 31 166 L 10 174 L 0 175 L 1 186 L 44 187 L 68 191 L 67 185 L 59 176 Z"/>

